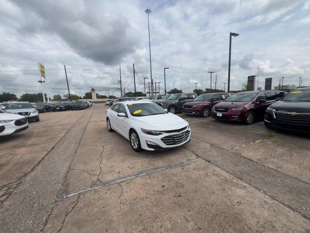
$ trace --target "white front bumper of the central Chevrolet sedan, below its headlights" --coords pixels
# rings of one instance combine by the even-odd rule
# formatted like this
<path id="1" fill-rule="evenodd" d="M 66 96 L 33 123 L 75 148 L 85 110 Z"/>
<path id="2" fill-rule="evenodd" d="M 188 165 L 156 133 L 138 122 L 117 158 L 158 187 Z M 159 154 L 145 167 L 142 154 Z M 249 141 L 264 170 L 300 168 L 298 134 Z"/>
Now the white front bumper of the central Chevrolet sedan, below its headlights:
<path id="1" fill-rule="evenodd" d="M 183 146 L 184 144 L 188 143 L 190 141 L 190 138 L 191 138 L 190 127 L 188 127 L 184 132 L 187 132 L 187 131 L 189 132 L 188 137 L 186 136 L 184 141 L 182 141 L 179 144 L 175 144 L 175 145 L 167 145 L 161 140 L 162 138 L 167 137 L 170 134 L 163 133 L 163 134 L 156 136 L 156 135 L 149 135 L 146 133 L 142 133 L 142 131 L 141 131 L 139 133 L 141 148 L 143 150 L 167 150 L 167 149 L 172 149 L 172 148 Z M 146 141 L 155 143 L 156 145 L 152 145 L 150 143 L 147 143 Z"/>

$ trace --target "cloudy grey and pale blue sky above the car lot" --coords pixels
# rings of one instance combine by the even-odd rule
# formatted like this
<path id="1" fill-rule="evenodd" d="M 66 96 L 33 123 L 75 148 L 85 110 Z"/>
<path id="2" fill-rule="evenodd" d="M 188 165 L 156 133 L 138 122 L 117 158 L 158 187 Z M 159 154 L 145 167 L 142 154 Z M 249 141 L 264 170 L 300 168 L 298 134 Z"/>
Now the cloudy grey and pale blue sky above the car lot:
<path id="1" fill-rule="evenodd" d="M 38 65 L 46 66 L 49 95 L 83 96 L 95 87 L 108 94 L 119 87 L 137 91 L 150 81 L 150 8 L 154 82 L 166 70 L 167 90 L 223 89 L 228 76 L 229 33 L 233 37 L 231 89 L 248 75 L 259 85 L 310 84 L 310 0 L 0 0 L 0 92 L 17 96 L 40 91 Z M 111 94 L 110 92 L 110 94 Z M 114 95 L 120 93 L 114 90 Z"/>

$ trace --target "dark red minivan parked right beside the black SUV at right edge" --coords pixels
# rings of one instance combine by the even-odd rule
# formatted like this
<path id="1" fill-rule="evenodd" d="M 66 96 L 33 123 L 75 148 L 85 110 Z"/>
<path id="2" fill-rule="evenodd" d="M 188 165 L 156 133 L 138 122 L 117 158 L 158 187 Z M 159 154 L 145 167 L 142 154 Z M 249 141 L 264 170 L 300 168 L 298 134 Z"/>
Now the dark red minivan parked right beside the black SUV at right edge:
<path id="1" fill-rule="evenodd" d="M 215 119 L 241 121 L 250 125 L 256 119 L 263 119 L 269 105 L 280 100 L 283 91 L 245 91 L 231 95 L 213 106 L 211 116 Z"/>

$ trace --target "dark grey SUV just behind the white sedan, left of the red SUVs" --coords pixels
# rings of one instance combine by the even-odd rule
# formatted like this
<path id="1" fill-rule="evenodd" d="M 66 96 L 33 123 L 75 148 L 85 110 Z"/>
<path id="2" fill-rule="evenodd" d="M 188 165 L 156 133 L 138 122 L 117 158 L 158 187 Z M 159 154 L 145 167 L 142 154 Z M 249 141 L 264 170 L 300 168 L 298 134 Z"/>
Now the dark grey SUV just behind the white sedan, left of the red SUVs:
<path id="1" fill-rule="evenodd" d="M 197 97 L 197 94 L 194 92 L 191 93 L 180 93 L 173 94 L 168 99 L 163 99 L 162 101 L 156 102 L 162 108 L 168 109 L 170 113 L 182 112 L 183 104 L 194 100 Z"/>

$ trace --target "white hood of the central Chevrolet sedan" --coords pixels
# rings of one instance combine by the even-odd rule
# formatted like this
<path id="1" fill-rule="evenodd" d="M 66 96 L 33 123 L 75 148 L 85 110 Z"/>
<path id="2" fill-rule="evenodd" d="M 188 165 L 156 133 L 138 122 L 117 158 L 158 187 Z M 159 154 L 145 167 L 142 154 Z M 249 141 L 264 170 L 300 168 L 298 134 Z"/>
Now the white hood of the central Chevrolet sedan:
<path id="1" fill-rule="evenodd" d="M 182 119 L 180 116 L 168 113 L 159 114 L 153 116 L 133 116 L 135 121 L 139 122 L 142 127 L 164 127 L 157 130 L 172 130 L 176 129 L 177 125 L 182 125 L 180 128 L 184 127 L 183 124 L 188 125 L 186 120 Z M 148 128 L 150 129 L 150 128 Z"/>

